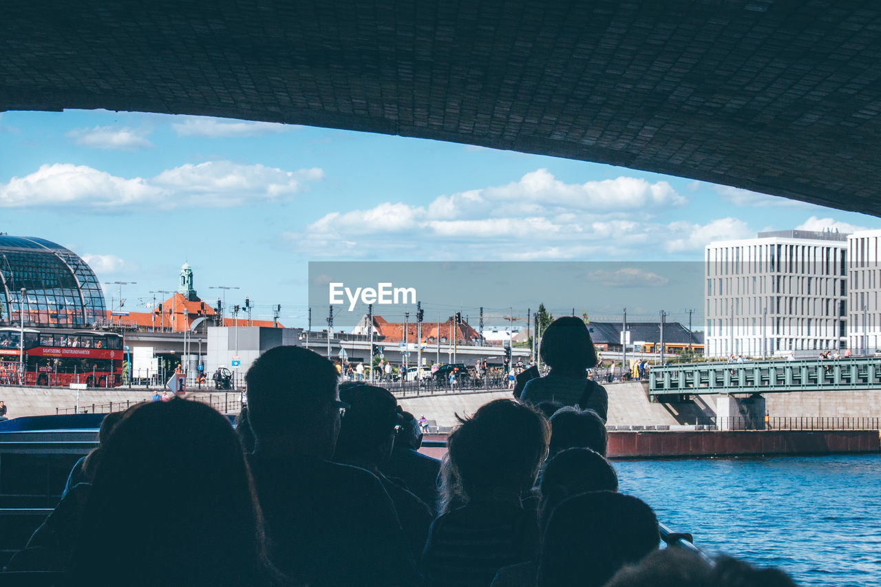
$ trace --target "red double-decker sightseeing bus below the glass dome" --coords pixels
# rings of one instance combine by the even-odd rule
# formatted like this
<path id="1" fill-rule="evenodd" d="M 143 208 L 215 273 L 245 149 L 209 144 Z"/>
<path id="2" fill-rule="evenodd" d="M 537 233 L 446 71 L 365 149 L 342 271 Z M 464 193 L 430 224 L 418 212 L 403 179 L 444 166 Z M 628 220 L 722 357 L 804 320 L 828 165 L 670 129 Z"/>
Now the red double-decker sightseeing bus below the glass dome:
<path id="1" fill-rule="evenodd" d="M 24 331 L 24 372 L 21 333 L 0 328 L 0 383 L 89 387 L 122 384 L 122 335 L 115 332 L 61 329 Z"/>

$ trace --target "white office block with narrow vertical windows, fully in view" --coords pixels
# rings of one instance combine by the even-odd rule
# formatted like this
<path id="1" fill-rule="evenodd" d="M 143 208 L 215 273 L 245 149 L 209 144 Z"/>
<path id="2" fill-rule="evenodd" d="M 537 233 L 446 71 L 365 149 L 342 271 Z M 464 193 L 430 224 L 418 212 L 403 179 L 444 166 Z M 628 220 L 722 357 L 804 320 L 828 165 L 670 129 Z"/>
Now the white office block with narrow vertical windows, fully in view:
<path id="1" fill-rule="evenodd" d="M 705 354 L 763 357 L 848 343 L 848 235 L 785 230 L 705 249 Z"/>

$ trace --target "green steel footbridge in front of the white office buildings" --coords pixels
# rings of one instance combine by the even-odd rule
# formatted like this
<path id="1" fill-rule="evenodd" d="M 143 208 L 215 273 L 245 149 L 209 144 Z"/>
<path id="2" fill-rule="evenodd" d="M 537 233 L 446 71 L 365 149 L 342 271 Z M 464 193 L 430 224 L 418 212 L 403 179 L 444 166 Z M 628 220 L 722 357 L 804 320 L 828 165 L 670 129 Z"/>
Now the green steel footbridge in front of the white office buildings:
<path id="1" fill-rule="evenodd" d="M 649 370 L 648 396 L 881 390 L 881 358 L 688 363 Z"/>

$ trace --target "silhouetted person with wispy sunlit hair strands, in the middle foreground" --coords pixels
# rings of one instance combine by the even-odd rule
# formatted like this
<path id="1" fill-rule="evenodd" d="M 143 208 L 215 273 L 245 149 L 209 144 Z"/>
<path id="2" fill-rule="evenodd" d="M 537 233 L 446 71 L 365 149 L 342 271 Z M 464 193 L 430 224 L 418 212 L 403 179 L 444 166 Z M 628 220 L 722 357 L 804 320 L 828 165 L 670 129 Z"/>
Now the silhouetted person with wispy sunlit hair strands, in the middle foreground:
<path id="1" fill-rule="evenodd" d="M 488 586 L 501 567 L 535 556 L 536 516 L 520 496 L 535 483 L 549 436 L 541 413 L 509 399 L 482 406 L 449 436 L 441 502 L 464 505 L 432 524 L 426 585 Z"/>

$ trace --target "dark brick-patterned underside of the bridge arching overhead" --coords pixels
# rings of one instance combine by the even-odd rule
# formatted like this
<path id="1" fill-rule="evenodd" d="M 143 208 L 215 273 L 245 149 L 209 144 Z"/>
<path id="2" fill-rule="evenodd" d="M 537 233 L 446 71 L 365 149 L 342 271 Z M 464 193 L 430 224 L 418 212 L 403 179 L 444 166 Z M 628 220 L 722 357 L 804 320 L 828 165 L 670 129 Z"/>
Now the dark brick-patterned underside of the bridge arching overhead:
<path id="1" fill-rule="evenodd" d="M 881 5 L 34 0 L 0 111 L 366 130 L 881 213 Z"/>

